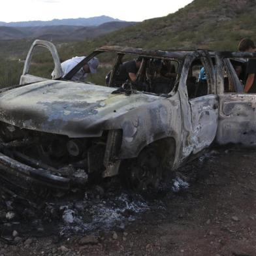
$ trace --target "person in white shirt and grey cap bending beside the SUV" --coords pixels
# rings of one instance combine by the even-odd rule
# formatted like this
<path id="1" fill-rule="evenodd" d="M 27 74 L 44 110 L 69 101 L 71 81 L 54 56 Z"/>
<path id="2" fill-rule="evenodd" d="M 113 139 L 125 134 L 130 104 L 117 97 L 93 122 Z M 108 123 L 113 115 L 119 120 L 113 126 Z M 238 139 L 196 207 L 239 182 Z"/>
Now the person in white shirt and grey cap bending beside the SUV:
<path id="1" fill-rule="evenodd" d="M 80 63 L 83 59 L 85 59 L 86 56 L 81 57 L 72 57 L 72 59 L 67 59 L 67 61 L 64 61 L 61 63 L 61 69 L 63 71 L 63 76 L 69 73 L 78 63 Z M 76 74 L 71 78 L 72 81 L 81 81 L 84 82 L 88 76 L 89 73 L 95 74 L 97 72 L 97 67 L 99 66 L 99 59 L 97 57 L 93 57 L 86 63 L 81 69 L 79 69 Z"/>

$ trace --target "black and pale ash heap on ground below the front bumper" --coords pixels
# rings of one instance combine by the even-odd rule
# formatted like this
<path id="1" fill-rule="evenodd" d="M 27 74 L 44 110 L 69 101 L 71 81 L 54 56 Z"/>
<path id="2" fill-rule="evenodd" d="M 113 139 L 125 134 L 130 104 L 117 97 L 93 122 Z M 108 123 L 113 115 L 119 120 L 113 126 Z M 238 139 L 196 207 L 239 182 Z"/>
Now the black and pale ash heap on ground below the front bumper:
<path id="1" fill-rule="evenodd" d="M 114 187 L 114 188 L 113 188 Z M 0 189 L 1 241 L 19 244 L 29 237 L 71 234 L 99 234 L 124 230 L 138 214 L 150 209 L 142 195 L 117 185 L 93 185 L 88 191 L 42 191 L 42 195 L 18 195 L 7 187 Z"/>

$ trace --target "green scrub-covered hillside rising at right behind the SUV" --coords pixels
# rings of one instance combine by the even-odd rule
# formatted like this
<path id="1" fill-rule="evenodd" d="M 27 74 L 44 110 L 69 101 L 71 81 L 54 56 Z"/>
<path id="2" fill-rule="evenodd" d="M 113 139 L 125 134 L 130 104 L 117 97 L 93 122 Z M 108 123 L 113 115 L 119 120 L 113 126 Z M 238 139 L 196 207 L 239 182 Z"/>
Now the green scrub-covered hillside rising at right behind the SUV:
<path id="1" fill-rule="evenodd" d="M 255 11 L 256 1 L 251 0 L 195 0 L 174 14 L 75 44 L 72 52 L 84 54 L 104 44 L 236 50 L 241 38 L 256 39 Z M 65 56 L 72 52 L 65 51 Z"/>

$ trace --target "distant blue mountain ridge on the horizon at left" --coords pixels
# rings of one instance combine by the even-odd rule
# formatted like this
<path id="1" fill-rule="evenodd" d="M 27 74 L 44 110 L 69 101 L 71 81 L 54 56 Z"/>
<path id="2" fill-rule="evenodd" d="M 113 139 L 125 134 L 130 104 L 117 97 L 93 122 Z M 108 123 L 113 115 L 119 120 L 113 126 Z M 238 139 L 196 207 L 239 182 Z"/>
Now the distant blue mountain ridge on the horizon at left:
<path id="1" fill-rule="evenodd" d="M 111 18 L 109 16 L 96 16 L 91 18 L 77 18 L 77 19 L 62 19 L 62 20 L 33 20 L 29 22 L 0 22 L 1 26 L 5 27 L 42 27 L 51 25 L 81 25 L 93 26 L 101 25 L 106 22 L 121 22 L 121 20 Z"/>

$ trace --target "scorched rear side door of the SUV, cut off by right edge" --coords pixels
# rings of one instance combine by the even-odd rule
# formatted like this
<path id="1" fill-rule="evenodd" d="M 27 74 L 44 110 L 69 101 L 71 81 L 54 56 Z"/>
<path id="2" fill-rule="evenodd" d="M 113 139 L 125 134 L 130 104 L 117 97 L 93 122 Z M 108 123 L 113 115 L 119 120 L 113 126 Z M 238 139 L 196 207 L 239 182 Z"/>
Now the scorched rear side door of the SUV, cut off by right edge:
<path id="1" fill-rule="evenodd" d="M 241 79 L 232 58 L 256 57 L 249 53 L 217 53 L 217 91 L 219 93 L 219 144 L 256 146 L 256 94 L 243 93 L 246 77 Z M 242 65 L 244 68 L 246 65 Z M 243 71 L 245 72 L 245 71 Z M 231 91 L 226 88 L 233 88 Z"/>

